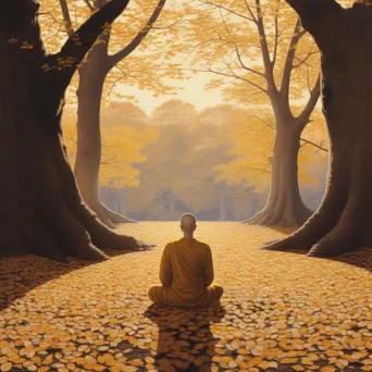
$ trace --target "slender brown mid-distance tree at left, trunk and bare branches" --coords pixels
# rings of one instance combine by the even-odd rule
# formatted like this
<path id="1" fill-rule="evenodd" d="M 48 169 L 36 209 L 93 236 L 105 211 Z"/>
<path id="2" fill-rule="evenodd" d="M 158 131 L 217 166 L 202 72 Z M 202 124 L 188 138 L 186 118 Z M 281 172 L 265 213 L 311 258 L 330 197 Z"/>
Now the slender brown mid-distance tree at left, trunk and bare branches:
<path id="1" fill-rule="evenodd" d="M 87 4 L 87 9 L 89 11 L 95 12 L 102 8 L 104 1 L 87 0 L 85 3 Z M 74 25 L 70 15 L 67 0 L 60 0 L 60 4 L 66 32 L 69 35 L 71 35 L 73 33 Z M 78 134 L 75 176 L 83 199 L 97 213 L 99 219 L 109 227 L 114 227 L 116 223 L 133 221 L 108 209 L 99 199 L 98 179 L 101 163 L 100 108 L 103 99 L 102 96 L 104 95 L 104 83 L 109 76 L 111 82 L 111 90 L 112 85 L 117 84 L 119 80 L 127 77 L 127 75 L 133 74 L 133 78 L 137 82 L 137 84 L 142 84 L 141 79 L 144 78 L 138 78 L 135 71 L 129 72 L 125 69 L 126 66 L 120 65 L 120 63 L 131 55 L 131 53 L 133 53 L 142 42 L 144 38 L 149 34 L 149 32 L 154 28 L 154 23 L 163 10 L 164 4 L 165 0 L 157 1 L 156 7 L 153 7 L 153 2 L 150 4 L 148 4 L 148 2 L 137 4 L 137 14 L 136 12 L 133 14 L 133 20 L 136 22 L 133 22 L 132 29 L 129 29 L 132 40 L 128 40 L 123 46 L 123 39 L 126 41 L 123 33 L 114 33 L 111 30 L 111 28 L 108 28 L 107 32 L 99 37 L 96 46 L 88 52 L 86 62 L 83 63 L 78 69 Z M 138 24 L 142 22 L 142 17 L 138 16 L 138 10 L 144 12 L 144 8 L 148 10 L 149 5 L 153 7 L 152 14 L 149 16 L 145 25 L 137 28 L 137 30 L 134 30 L 134 28 L 138 27 Z M 140 18 L 139 21 L 137 20 L 138 17 Z M 116 49 L 117 46 L 120 46 L 120 49 L 114 53 L 109 53 L 110 42 L 115 45 Z M 144 66 L 144 62 L 140 62 Z M 116 74 L 113 76 L 112 74 L 110 75 L 112 70 L 115 70 L 115 67 Z M 138 71 L 140 71 L 140 69 L 138 69 Z M 158 86 L 154 83 L 153 85 L 149 85 L 156 87 L 154 90 L 158 91 L 163 88 L 162 84 L 158 84 Z"/>

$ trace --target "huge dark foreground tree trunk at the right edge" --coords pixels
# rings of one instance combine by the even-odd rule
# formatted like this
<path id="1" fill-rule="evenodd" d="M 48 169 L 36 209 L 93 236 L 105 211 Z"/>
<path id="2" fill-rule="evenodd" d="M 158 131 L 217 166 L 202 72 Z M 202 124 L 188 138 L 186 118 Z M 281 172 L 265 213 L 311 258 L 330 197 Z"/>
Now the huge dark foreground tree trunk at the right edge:
<path id="1" fill-rule="evenodd" d="M 288 0 L 322 52 L 323 113 L 331 140 L 327 187 L 319 210 L 266 249 L 330 257 L 372 244 L 372 8 L 334 0 Z"/>

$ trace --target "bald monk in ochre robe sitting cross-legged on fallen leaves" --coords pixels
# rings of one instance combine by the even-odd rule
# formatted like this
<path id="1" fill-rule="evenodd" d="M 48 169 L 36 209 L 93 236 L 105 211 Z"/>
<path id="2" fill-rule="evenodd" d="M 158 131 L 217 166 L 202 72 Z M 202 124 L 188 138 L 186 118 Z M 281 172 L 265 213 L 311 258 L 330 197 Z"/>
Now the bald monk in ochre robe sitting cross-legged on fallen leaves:
<path id="1" fill-rule="evenodd" d="M 169 243 L 161 258 L 160 282 L 148 292 L 152 302 L 170 308 L 201 309 L 220 303 L 223 288 L 214 278 L 211 248 L 194 238 L 194 214 L 181 219 L 184 237 Z"/>

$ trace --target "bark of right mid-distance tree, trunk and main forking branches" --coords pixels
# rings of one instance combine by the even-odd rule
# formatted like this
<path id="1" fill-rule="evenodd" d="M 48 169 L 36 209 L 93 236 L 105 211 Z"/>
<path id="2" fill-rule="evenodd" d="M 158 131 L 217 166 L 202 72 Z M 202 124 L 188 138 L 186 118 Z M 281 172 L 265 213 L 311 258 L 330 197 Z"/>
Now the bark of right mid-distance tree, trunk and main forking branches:
<path id="1" fill-rule="evenodd" d="M 256 2 L 256 7 L 257 13 L 259 14 L 257 27 L 260 35 L 262 60 L 265 71 L 264 76 L 268 85 L 264 92 L 271 101 L 275 117 L 275 146 L 266 206 L 261 212 L 244 222 L 263 226 L 300 226 L 311 215 L 312 211 L 303 204 L 299 194 L 297 170 L 299 138 L 305 126 L 310 122 L 310 115 L 320 97 L 320 84 L 318 79 L 310 91 L 309 100 L 302 112 L 299 116 L 294 117 L 289 103 L 290 77 L 295 69 L 296 47 L 300 38 L 305 35 L 305 32 L 301 30 L 301 24 L 298 21 L 288 45 L 281 87 L 278 88 L 274 77 L 276 53 L 271 59 L 260 1 Z M 275 48 L 277 48 L 278 38 L 276 38 L 275 42 Z"/>

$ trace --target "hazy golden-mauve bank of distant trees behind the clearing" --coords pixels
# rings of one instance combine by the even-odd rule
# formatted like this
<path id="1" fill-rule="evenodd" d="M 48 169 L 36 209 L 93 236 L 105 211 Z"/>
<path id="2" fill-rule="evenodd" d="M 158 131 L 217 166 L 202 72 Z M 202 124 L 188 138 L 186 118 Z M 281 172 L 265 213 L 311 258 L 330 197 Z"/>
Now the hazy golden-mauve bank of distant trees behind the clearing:
<path id="1" fill-rule="evenodd" d="M 151 129 L 157 132 L 157 139 L 142 149 L 146 161 L 135 165 L 138 187 L 101 182 L 101 186 L 108 186 L 101 190 L 102 198 L 111 208 L 129 211 L 139 219 L 174 220 L 181 211 L 206 219 L 248 218 L 262 207 L 269 186 L 274 140 L 271 120 L 269 109 L 255 117 L 255 112 L 228 104 L 197 112 L 189 103 L 170 100 L 150 117 L 128 102 L 110 104 L 102 111 L 103 131 L 120 126 L 140 133 Z M 319 142 L 317 136 L 324 133 L 320 123 L 313 122 L 306 135 L 306 140 Z M 326 169 L 326 152 L 319 151 L 314 157 L 319 149 L 301 142 L 301 186 L 309 188 L 307 194 L 317 194 L 313 188 L 320 179 L 323 183 L 324 172 L 319 174 L 314 168 Z M 114 144 L 116 153 L 122 153 L 121 144 Z M 104 159 L 107 146 L 103 141 Z M 121 161 L 126 161 L 124 154 Z M 257 171 L 245 170 L 248 166 Z M 120 169 L 109 171 L 110 164 L 102 168 L 113 179 L 120 177 Z"/>

